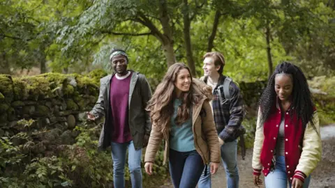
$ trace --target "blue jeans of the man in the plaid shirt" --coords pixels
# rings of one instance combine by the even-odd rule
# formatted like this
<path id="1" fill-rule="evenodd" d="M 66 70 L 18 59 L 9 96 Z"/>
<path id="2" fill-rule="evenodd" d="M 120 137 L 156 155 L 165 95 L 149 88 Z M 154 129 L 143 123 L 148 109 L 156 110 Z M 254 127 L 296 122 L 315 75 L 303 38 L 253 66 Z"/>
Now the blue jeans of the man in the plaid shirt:
<path id="1" fill-rule="evenodd" d="M 239 169 L 237 169 L 237 139 L 232 142 L 225 142 L 221 146 L 221 160 L 225 167 L 228 188 L 239 187 Z M 205 170 L 205 169 L 204 169 Z M 211 188 L 211 173 L 207 166 L 207 175 L 202 173 L 198 182 L 199 188 Z"/>

